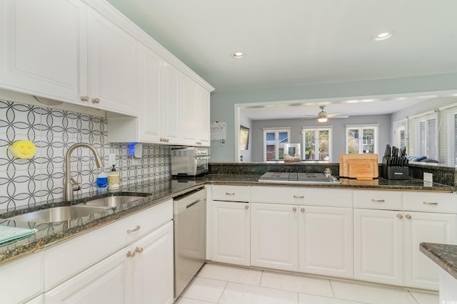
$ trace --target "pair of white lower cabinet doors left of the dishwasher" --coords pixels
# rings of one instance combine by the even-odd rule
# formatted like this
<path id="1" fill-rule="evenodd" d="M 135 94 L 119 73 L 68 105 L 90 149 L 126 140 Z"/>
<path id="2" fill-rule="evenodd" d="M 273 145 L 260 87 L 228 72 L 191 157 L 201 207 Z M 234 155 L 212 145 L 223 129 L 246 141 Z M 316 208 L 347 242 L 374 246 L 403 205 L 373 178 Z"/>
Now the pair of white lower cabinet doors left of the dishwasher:
<path id="1" fill-rule="evenodd" d="M 44 293 L 53 303 L 173 303 L 173 222 Z"/>

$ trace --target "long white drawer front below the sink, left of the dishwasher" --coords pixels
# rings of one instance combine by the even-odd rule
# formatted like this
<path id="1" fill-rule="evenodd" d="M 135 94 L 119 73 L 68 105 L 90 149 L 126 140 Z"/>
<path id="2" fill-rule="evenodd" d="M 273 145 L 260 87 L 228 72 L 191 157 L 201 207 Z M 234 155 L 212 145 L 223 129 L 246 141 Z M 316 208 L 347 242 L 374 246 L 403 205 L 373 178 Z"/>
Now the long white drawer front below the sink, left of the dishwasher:
<path id="1" fill-rule="evenodd" d="M 173 200 L 170 199 L 112 224 L 51 246 L 44 251 L 45 291 L 172 219 Z"/>

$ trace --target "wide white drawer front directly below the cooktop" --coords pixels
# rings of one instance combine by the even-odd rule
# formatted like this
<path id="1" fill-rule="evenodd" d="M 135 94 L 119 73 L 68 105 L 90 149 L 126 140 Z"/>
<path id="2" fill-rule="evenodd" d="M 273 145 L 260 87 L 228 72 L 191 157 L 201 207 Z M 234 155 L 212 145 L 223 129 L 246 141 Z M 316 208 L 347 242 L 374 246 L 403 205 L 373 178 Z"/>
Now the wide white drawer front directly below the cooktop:
<path id="1" fill-rule="evenodd" d="M 251 187 L 251 201 L 259 203 L 352 207 L 352 190 L 303 187 Z"/>

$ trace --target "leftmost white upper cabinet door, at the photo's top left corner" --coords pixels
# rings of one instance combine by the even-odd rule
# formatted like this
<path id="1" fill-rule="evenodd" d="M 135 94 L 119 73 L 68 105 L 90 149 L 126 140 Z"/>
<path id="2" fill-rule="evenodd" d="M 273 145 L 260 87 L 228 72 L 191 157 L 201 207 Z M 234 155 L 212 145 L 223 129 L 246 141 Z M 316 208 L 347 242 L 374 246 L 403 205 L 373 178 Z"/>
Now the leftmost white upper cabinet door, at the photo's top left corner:
<path id="1" fill-rule="evenodd" d="M 0 64 L 0 86 L 81 104 L 84 4 L 76 0 L 5 0 L 0 11 L 4 61 Z"/>

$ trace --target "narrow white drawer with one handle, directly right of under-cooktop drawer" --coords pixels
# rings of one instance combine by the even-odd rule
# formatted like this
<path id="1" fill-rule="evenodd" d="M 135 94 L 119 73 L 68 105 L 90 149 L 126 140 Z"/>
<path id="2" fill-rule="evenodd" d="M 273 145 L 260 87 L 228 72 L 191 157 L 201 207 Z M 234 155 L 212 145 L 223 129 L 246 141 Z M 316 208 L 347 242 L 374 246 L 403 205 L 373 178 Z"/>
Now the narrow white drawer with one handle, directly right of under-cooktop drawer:
<path id="1" fill-rule="evenodd" d="M 354 190 L 354 208 L 401 210 L 401 192 Z"/>

